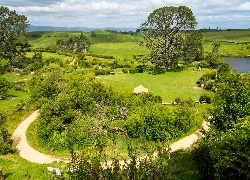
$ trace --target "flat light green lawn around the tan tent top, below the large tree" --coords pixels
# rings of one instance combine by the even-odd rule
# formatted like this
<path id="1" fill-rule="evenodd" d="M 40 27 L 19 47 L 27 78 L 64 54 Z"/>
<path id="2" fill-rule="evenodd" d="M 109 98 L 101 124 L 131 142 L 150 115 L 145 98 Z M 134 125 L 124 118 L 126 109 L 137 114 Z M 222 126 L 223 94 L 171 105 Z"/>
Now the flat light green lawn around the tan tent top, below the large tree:
<path id="1" fill-rule="evenodd" d="M 181 72 L 167 72 L 165 74 L 152 75 L 148 73 L 122 74 L 100 76 L 104 84 L 114 87 L 115 90 L 124 93 L 133 93 L 135 87 L 142 85 L 148 88 L 150 93 L 159 95 L 163 101 L 174 101 L 175 98 L 188 100 L 189 98 L 198 101 L 203 93 L 210 93 L 202 89 L 195 89 L 196 82 L 210 69 L 192 71 L 193 68 L 184 69 Z"/>

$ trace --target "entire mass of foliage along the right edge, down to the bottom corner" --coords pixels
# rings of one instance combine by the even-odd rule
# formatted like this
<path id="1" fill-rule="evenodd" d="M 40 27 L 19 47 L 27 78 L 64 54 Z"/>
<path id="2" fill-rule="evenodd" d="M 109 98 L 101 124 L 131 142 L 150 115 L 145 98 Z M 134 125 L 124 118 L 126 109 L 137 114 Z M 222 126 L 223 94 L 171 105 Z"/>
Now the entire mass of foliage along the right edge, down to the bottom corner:
<path id="1" fill-rule="evenodd" d="M 216 84 L 211 130 L 196 143 L 193 159 L 204 179 L 249 179 L 250 79 L 225 66 Z"/>

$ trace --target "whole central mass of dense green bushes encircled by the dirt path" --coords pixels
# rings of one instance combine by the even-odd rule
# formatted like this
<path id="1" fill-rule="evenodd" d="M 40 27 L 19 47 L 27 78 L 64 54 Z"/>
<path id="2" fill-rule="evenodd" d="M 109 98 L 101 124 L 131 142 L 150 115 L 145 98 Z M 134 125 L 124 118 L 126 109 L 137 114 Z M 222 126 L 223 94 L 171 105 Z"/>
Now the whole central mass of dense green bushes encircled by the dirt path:
<path id="1" fill-rule="evenodd" d="M 88 74 L 64 76 L 59 69 L 37 72 L 30 81 L 31 98 L 42 106 L 37 135 L 57 149 L 105 147 L 116 134 L 147 141 L 168 141 L 195 124 L 194 107 L 171 110 L 161 97 L 115 92 Z"/>

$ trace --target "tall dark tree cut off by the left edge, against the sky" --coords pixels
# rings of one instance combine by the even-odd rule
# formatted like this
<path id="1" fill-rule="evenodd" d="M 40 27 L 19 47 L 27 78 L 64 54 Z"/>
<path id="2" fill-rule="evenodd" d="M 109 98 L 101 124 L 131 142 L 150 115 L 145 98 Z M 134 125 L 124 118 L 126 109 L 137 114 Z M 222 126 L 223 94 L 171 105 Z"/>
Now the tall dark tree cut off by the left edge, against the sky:
<path id="1" fill-rule="evenodd" d="M 29 47 L 26 32 L 29 24 L 24 15 L 0 7 L 0 58 L 8 59 L 10 68 L 15 57 Z"/>

